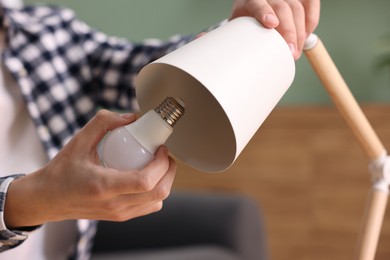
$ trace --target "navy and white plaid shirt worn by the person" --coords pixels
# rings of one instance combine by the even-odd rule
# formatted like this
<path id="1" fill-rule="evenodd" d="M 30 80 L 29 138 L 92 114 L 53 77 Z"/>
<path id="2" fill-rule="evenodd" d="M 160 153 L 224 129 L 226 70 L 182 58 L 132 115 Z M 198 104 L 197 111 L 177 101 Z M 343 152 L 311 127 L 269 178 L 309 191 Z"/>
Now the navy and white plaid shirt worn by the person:
<path id="1" fill-rule="evenodd" d="M 37 6 L 2 12 L 7 33 L 2 61 L 20 87 L 50 159 L 97 107 L 137 110 L 133 79 L 138 71 L 192 39 L 134 44 L 91 29 L 68 9 Z M 31 231 L 8 230 L 3 220 L 8 185 L 20 176 L 0 178 L 0 251 L 18 246 Z M 78 227 L 71 258 L 88 259 L 96 222 L 79 220 Z"/>

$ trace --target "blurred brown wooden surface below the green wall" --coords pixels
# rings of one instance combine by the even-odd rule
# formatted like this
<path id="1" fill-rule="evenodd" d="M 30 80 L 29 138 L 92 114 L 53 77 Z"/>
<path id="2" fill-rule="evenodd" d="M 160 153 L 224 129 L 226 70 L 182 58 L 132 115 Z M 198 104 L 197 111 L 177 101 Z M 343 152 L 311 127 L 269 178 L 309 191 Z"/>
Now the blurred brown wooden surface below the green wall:
<path id="1" fill-rule="evenodd" d="M 390 105 L 363 106 L 390 150 Z M 175 189 L 251 196 L 273 260 L 352 259 L 367 193 L 368 159 L 332 106 L 274 110 L 235 164 L 217 174 L 179 163 Z M 390 259 L 390 212 L 376 259 Z"/>

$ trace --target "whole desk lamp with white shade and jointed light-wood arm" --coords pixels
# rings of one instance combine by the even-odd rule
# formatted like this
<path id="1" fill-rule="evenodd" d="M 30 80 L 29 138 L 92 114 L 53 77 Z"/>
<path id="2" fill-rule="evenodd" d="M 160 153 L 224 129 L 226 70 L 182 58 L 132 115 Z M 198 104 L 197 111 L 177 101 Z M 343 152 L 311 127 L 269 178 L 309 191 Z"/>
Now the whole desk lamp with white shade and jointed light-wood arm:
<path id="1" fill-rule="evenodd" d="M 373 128 L 314 34 L 305 54 L 368 157 L 374 181 L 356 259 L 374 258 L 387 203 L 390 163 Z M 219 172 L 232 165 L 291 85 L 295 65 L 284 39 L 240 17 L 146 65 L 136 79 L 141 112 L 167 96 L 186 112 L 166 145 L 186 164 Z"/>

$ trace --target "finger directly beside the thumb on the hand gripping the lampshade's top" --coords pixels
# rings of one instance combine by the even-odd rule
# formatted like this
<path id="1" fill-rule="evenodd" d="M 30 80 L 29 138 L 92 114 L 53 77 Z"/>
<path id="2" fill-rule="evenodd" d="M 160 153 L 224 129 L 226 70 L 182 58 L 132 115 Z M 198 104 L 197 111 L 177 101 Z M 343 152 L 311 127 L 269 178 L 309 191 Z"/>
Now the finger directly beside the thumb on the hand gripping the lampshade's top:
<path id="1" fill-rule="evenodd" d="M 290 6 L 284 1 L 272 2 L 272 7 L 279 18 L 279 26 L 276 30 L 282 35 L 287 42 L 293 57 L 297 54 L 297 37 L 293 13 Z"/>

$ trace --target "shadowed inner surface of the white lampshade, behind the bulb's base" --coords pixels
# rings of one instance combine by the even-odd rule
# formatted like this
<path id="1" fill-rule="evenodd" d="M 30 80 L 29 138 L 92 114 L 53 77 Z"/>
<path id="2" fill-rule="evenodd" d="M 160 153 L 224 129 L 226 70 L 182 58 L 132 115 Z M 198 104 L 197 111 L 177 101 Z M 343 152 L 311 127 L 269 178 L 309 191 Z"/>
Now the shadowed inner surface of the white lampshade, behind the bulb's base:
<path id="1" fill-rule="evenodd" d="M 220 172 L 236 157 L 232 125 L 215 97 L 201 82 L 177 67 L 152 63 L 137 80 L 141 112 L 156 107 L 168 96 L 185 103 L 185 114 L 166 145 L 186 164 L 203 172 Z"/>

